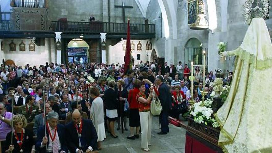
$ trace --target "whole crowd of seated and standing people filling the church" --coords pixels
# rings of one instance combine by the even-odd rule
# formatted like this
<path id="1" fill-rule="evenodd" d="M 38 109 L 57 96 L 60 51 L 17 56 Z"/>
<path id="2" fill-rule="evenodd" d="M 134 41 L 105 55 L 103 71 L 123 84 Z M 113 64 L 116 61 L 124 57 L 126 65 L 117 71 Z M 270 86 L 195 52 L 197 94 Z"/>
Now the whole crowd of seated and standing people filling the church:
<path id="1" fill-rule="evenodd" d="M 193 95 L 189 90 L 191 73 L 182 62 L 169 67 L 167 62 L 162 66 L 141 61 L 126 74 L 124 64 L 119 63 L 45 63 L 39 69 L 29 64 L 24 69 L 2 64 L 2 152 L 94 152 L 102 149 L 100 142 L 104 141 L 106 133 L 118 138 L 115 130 L 120 129 L 130 130 L 127 136 L 130 140 L 138 139 L 141 130 L 141 148 L 149 151 L 152 100 L 158 98 L 162 105 L 158 134 L 168 134 L 168 116 L 179 118 L 180 114 L 185 114 L 189 109 L 188 100 L 199 101 L 203 88 L 209 93 L 205 98 L 210 98 L 215 79 L 213 72 L 207 73 L 203 85 L 202 72 L 198 66 L 195 68 Z M 231 82 L 232 74 L 229 72 L 224 83 Z M 33 130 L 29 128 L 31 123 L 34 123 Z"/>

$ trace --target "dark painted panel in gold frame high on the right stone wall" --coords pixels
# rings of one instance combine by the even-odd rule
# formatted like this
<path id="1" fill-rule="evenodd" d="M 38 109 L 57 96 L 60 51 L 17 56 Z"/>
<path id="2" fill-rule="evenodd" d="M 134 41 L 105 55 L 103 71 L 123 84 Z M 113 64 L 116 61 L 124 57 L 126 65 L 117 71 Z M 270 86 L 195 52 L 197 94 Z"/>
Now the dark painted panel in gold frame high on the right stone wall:
<path id="1" fill-rule="evenodd" d="M 198 16 L 198 0 L 188 0 L 188 24 L 194 24 Z"/>

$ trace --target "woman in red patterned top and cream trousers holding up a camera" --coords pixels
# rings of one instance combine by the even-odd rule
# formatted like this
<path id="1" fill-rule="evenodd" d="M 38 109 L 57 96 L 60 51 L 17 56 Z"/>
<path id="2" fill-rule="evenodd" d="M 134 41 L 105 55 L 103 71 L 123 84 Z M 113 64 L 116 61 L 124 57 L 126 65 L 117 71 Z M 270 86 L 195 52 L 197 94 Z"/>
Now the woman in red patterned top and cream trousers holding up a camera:
<path id="1" fill-rule="evenodd" d="M 149 96 L 146 97 L 145 95 L 145 83 L 140 83 L 140 92 L 137 94 L 136 99 L 139 103 L 139 114 L 140 114 L 140 121 L 141 121 L 141 133 L 142 133 L 142 141 L 141 146 L 144 151 L 150 151 L 149 147 L 151 142 L 151 126 L 152 126 L 152 116 L 150 112 L 150 104 L 151 99 L 153 97 L 153 87 L 149 88 Z"/>

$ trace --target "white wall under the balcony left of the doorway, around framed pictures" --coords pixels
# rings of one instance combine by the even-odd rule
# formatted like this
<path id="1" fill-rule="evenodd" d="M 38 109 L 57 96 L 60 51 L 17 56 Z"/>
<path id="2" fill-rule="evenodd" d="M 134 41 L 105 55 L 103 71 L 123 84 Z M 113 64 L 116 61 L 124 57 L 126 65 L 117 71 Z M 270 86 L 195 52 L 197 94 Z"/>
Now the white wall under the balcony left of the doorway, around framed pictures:
<path id="1" fill-rule="evenodd" d="M 16 51 L 9 51 L 11 40 L 16 44 Z M 19 51 L 21 41 L 26 45 L 26 51 Z M 18 66 L 30 64 L 30 66 L 45 65 L 45 62 L 56 62 L 56 52 L 53 38 L 45 38 L 45 46 L 35 45 L 35 51 L 29 51 L 29 43 L 33 39 L 4 39 L 4 58 L 11 59 Z M 2 52 L 2 51 L 1 51 Z M 0 53 L 0 56 L 2 54 Z M 1 56 L 2 58 L 2 56 Z"/>

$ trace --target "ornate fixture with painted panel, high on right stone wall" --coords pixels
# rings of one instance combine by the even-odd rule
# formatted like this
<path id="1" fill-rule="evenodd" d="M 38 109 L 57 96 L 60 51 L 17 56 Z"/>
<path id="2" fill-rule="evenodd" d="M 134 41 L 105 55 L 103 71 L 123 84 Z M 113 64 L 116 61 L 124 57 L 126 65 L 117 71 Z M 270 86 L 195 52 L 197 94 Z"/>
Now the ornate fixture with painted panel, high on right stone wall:
<path id="1" fill-rule="evenodd" d="M 190 29 L 193 30 L 205 30 L 209 28 L 205 14 L 205 5 L 202 0 L 189 0 L 188 24 Z"/>

